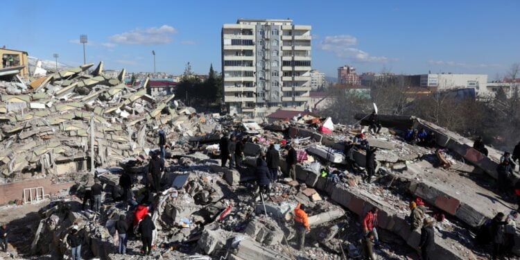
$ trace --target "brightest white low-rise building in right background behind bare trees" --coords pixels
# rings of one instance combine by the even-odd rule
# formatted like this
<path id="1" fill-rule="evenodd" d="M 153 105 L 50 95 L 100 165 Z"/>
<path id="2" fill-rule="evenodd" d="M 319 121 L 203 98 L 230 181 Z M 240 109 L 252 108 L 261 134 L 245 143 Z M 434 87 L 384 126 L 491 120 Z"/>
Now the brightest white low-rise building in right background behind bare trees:
<path id="1" fill-rule="evenodd" d="M 420 86 L 437 87 L 438 91 L 474 88 L 478 96 L 489 94 L 487 91 L 487 75 L 485 74 L 424 74 L 421 75 Z"/>

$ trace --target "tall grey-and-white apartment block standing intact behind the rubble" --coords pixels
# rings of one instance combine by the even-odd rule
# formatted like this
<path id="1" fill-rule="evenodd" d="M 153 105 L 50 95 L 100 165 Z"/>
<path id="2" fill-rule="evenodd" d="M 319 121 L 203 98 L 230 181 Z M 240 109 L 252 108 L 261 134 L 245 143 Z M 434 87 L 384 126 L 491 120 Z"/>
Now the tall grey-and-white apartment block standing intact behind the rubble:
<path id="1" fill-rule="evenodd" d="M 311 90 L 311 26 L 239 19 L 222 28 L 223 97 L 230 114 L 304 110 Z"/>

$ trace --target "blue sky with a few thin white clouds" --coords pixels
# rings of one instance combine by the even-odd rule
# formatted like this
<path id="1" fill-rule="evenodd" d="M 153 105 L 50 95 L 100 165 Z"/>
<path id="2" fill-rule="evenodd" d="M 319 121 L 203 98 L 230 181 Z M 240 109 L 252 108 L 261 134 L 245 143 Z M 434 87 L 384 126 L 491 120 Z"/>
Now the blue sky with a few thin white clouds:
<path id="1" fill-rule="evenodd" d="M 520 1 L 2 1 L 0 46 L 76 66 L 220 71 L 220 29 L 238 18 L 291 18 L 313 26 L 313 69 L 487 73 L 520 62 Z"/>

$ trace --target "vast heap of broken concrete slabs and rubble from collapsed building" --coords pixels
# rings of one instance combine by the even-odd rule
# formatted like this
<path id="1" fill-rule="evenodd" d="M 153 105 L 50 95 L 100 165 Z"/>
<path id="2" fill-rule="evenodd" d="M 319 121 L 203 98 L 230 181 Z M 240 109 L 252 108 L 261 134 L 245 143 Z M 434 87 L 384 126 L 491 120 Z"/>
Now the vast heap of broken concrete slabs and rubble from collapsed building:
<path id="1" fill-rule="evenodd" d="M 514 208 L 495 188 L 499 151 L 489 148 L 485 157 L 471 148 L 468 139 L 422 119 L 379 116 L 385 128 L 379 135 L 367 134 L 370 146 L 379 148 L 378 174 L 373 184 L 365 184 L 359 173 L 347 170 L 343 155 L 345 141 L 367 130 L 362 125 L 333 124 L 307 115 L 260 126 L 197 114 L 173 101 L 173 96 L 146 95 L 146 82 L 136 89 L 125 87 L 124 70 L 118 78 L 106 78 L 103 63 L 85 72 L 92 66 L 59 71 L 31 83 L 16 77 L 15 82 L 0 81 L 4 180 L 73 173 L 76 181 L 67 195 L 53 197 L 40 210 L 41 220 L 33 225 L 34 236 L 26 247 L 30 250 L 20 253 L 62 257 L 67 254 L 62 241 L 76 223 L 88 245 L 83 254 L 125 259 L 115 253 L 114 223 L 121 215 L 132 223 L 132 210 L 115 202 L 110 193 L 125 172 L 135 182 L 136 200 L 144 196 L 140 191 L 150 178 L 148 154 L 157 149 L 159 128 L 167 133 L 168 152 L 161 180 L 164 191 L 154 196 L 151 207 L 157 227 L 155 258 L 361 259 L 360 218 L 378 207 L 383 244 L 376 252 L 384 258 L 414 259 L 420 234 L 410 230 L 408 203 L 421 198 L 427 215 L 445 216 L 435 223 L 437 246 L 432 258 L 478 259 L 487 256 L 487 250 L 474 243 L 478 227 Z M 356 115 L 362 124 L 364 118 Z M 331 131 L 322 131 L 322 125 Z M 444 158 L 451 161 L 451 168 L 438 166 L 434 149 L 410 145 L 400 137 L 410 126 L 435 132 L 437 145 L 447 148 Z M 223 130 L 248 137 L 244 167 L 220 166 L 217 143 Z M 264 198 L 255 191 L 257 157 L 277 144 L 280 170 L 288 175 L 283 149 L 287 142 L 297 148 L 297 180 L 284 178 L 272 184 Z M 88 165 L 91 158 L 93 168 Z M 354 158 L 365 166 L 364 150 L 356 150 Z M 83 210 L 78 198 L 81 188 L 92 184 L 91 171 L 106 191 L 100 215 Z M 294 250 L 292 242 L 297 202 L 309 208 L 311 232 L 303 251 Z M 519 254 L 519 237 L 514 241 L 513 252 Z M 132 254 L 139 254 L 140 246 L 139 239 L 128 243 Z"/>

